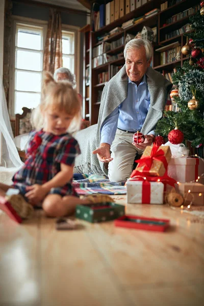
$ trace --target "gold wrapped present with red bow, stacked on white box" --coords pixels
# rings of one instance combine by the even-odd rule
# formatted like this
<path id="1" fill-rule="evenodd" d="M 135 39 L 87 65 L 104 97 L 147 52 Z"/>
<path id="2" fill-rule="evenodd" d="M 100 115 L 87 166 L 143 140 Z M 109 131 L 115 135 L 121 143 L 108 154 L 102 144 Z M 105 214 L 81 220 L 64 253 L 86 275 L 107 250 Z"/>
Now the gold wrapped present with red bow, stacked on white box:
<path id="1" fill-rule="evenodd" d="M 169 146 L 147 146 L 134 171 L 142 173 L 142 175 L 162 176 L 165 174 L 168 162 L 171 158 L 171 150 Z M 133 175 L 134 175 L 133 171 Z"/>

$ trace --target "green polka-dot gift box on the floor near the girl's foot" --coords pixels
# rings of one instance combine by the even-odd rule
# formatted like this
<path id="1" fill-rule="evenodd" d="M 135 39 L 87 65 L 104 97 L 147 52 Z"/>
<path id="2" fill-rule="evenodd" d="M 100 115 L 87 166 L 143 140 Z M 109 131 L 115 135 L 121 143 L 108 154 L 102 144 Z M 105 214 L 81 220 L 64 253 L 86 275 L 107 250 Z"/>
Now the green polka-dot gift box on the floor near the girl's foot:
<path id="1" fill-rule="evenodd" d="M 125 207 L 114 202 L 77 205 L 76 218 L 95 223 L 117 219 L 125 214 Z"/>

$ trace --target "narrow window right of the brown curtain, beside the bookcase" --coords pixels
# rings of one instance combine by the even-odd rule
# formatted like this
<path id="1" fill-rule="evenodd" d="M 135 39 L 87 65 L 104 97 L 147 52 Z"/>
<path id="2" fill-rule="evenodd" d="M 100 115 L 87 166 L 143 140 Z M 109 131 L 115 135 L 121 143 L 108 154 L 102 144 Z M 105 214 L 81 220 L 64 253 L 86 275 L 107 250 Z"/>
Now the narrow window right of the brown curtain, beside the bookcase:
<path id="1" fill-rule="evenodd" d="M 74 73 L 74 32 L 62 31 L 62 65 Z"/>

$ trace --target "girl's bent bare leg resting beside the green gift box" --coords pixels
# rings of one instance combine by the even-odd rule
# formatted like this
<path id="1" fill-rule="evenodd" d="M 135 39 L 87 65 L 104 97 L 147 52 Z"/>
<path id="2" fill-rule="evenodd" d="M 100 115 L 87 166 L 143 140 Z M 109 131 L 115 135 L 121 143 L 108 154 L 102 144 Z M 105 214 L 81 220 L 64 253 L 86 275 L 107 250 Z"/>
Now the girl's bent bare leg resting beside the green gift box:
<path id="1" fill-rule="evenodd" d="M 48 194 L 42 203 L 42 208 L 47 217 L 63 217 L 72 215 L 77 205 L 90 203 L 92 201 L 86 197 L 80 199 L 72 195 L 62 197 L 59 194 Z"/>

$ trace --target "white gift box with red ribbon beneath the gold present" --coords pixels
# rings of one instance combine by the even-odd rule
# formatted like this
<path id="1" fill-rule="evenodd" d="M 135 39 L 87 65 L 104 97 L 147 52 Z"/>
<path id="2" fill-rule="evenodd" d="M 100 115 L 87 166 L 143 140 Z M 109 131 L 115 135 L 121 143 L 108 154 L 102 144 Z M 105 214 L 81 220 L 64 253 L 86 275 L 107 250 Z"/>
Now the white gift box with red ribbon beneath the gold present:
<path id="1" fill-rule="evenodd" d="M 164 184 L 161 182 L 149 182 L 150 186 L 142 181 L 127 181 L 127 203 L 163 204 Z M 149 195 L 147 203 L 142 202 Z"/>

